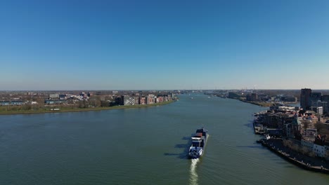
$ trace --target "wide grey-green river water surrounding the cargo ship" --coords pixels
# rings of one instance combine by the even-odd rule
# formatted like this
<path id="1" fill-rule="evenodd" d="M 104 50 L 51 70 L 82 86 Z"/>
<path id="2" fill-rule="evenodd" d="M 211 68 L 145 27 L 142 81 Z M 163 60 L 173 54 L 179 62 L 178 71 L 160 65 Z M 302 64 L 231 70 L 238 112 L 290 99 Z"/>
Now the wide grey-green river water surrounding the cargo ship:
<path id="1" fill-rule="evenodd" d="M 193 99 L 191 99 L 193 97 Z M 238 100 L 180 95 L 159 107 L 0 116 L 0 184 L 328 184 L 256 144 Z M 205 154 L 186 157 L 197 128 Z"/>

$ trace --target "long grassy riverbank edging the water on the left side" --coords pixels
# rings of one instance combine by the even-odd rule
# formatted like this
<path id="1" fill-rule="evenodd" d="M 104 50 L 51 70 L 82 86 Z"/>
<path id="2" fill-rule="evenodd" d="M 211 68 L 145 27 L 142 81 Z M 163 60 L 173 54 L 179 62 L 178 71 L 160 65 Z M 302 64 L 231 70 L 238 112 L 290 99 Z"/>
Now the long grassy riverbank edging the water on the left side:
<path id="1" fill-rule="evenodd" d="M 88 108 L 63 107 L 60 108 L 59 110 L 53 109 L 53 107 L 49 107 L 41 110 L 0 111 L 0 115 L 1 114 L 43 114 L 43 113 L 59 113 L 59 112 L 75 112 L 75 111 L 103 111 L 110 109 L 132 109 L 132 108 L 142 108 L 142 107 L 155 107 L 164 104 L 170 104 L 172 102 L 176 102 L 176 101 L 171 100 L 168 102 L 160 102 L 156 104 L 135 104 L 135 105 L 121 105 L 121 106 L 113 106 L 113 107 L 88 107 Z"/>

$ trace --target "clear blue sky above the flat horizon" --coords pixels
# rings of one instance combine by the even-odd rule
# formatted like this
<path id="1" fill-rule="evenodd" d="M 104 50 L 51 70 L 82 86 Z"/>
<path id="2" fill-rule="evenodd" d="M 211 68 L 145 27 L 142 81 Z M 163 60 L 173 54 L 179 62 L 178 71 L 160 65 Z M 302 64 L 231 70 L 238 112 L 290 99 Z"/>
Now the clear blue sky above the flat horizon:
<path id="1" fill-rule="evenodd" d="M 329 1 L 0 1 L 0 90 L 329 88 Z"/>

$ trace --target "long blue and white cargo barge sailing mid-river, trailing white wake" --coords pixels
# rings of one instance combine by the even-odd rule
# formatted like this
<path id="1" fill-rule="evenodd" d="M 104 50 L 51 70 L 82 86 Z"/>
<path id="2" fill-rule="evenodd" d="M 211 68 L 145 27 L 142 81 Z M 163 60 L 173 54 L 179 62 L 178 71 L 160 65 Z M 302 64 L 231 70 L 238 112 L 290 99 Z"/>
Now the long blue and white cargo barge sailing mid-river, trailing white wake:
<path id="1" fill-rule="evenodd" d="M 190 158 L 200 158 L 205 153 L 205 144 L 208 139 L 208 130 L 201 128 L 196 130 L 195 136 L 192 137 L 192 145 L 188 151 Z"/>

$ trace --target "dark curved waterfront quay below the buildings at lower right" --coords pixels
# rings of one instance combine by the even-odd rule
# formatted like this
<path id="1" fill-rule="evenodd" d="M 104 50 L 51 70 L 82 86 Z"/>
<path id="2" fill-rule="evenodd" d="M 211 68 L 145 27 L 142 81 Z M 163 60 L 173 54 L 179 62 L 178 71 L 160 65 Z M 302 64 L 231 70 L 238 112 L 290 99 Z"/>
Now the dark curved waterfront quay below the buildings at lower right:
<path id="1" fill-rule="evenodd" d="M 266 146 L 270 151 L 273 151 L 281 158 L 288 162 L 302 167 L 304 170 L 310 170 L 313 172 L 321 172 L 329 174 L 329 162 L 322 158 L 314 158 L 303 153 L 292 151 L 287 147 L 283 146 L 281 139 L 262 139 L 260 140 L 262 146 Z"/>

